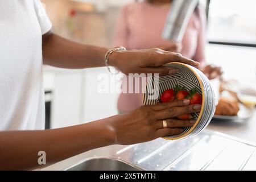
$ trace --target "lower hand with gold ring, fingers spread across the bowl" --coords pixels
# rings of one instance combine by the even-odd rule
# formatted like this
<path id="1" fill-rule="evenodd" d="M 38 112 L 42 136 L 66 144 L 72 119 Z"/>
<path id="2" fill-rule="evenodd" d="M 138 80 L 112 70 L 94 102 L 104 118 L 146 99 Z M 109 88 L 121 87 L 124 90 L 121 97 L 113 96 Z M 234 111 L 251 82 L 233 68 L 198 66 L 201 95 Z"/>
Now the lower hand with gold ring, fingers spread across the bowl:
<path id="1" fill-rule="evenodd" d="M 143 105 L 129 113 L 109 119 L 115 133 L 115 143 L 134 144 L 182 133 L 182 127 L 193 126 L 196 121 L 179 120 L 175 117 L 200 110 L 201 105 L 189 105 L 189 100 L 179 100 Z M 163 119 L 167 121 L 167 128 L 163 128 Z"/>

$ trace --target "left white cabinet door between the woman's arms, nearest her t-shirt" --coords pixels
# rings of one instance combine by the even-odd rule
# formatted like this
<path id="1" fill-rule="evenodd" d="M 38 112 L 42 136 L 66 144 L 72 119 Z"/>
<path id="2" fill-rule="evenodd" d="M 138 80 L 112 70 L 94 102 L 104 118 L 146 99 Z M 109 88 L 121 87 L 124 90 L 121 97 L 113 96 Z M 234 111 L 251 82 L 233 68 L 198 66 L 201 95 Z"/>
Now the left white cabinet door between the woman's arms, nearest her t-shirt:
<path id="1" fill-rule="evenodd" d="M 51 91 L 51 129 L 80 123 L 80 82 L 80 72 L 44 67 L 44 85 L 52 84 L 47 89 Z"/>

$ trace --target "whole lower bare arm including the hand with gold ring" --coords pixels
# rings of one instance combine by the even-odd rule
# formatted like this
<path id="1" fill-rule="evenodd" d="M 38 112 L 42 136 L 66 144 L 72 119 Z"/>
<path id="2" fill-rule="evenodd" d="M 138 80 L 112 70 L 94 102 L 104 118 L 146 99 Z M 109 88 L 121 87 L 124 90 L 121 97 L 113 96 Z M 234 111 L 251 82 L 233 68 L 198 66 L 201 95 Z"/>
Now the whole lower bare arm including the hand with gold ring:
<path id="1" fill-rule="evenodd" d="M 58 162 L 93 148 L 111 144 L 134 144 L 183 133 L 195 120 L 175 117 L 201 110 L 189 100 L 143 105 L 125 114 L 83 125 L 44 131 L 1 131 L 0 170 L 32 169 L 38 164 L 39 151 L 46 153 L 46 164 Z M 167 126 L 163 126 L 166 119 Z"/>

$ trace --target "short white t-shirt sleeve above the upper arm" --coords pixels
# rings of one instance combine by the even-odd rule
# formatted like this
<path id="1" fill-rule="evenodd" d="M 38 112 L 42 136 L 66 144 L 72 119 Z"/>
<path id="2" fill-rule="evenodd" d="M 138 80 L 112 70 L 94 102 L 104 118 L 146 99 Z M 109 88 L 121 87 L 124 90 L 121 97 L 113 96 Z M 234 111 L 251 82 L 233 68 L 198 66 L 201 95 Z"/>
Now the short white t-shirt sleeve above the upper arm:
<path id="1" fill-rule="evenodd" d="M 49 20 L 49 17 L 46 14 L 45 6 L 40 0 L 34 0 L 34 7 L 42 35 L 44 35 L 52 28 L 51 20 Z"/>

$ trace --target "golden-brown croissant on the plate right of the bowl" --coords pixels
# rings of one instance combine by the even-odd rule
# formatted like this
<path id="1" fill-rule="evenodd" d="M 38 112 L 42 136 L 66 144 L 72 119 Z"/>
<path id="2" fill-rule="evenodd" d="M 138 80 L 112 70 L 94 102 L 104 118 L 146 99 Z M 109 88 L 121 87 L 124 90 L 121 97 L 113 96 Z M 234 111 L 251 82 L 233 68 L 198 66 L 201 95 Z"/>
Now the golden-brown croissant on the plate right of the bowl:
<path id="1" fill-rule="evenodd" d="M 221 97 L 216 106 L 216 115 L 237 115 L 240 110 L 237 100 L 228 97 Z"/>

